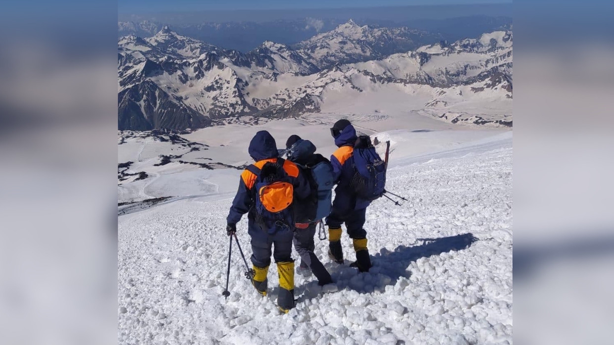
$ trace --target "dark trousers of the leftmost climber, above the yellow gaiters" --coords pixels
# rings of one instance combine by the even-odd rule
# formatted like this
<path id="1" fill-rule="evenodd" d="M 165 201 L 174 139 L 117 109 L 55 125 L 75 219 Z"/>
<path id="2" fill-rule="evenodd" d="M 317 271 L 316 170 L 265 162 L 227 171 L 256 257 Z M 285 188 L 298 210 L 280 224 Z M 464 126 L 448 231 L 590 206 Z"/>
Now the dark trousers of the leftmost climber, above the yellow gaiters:
<path id="1" fill-rule="evenodd" d="M 252 241 L 252 263 L 265 268 L 271 265 L 271 255 L 275 262 L 292 262 L 292 230 L 280 230 L 270 235 L 262 231 L 250 220 L 247 233 Z M 272 250 L 271 250 L 272 249 Z"/>

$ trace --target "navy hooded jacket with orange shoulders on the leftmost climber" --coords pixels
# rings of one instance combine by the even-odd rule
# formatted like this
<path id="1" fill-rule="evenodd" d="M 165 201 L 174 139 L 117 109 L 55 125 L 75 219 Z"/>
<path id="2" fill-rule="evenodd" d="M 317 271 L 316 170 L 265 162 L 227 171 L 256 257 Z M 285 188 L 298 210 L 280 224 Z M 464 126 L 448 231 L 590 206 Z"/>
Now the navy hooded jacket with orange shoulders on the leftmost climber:
<path id="1" fill-rule="evenodd" d="M 267 162 L 275 162 L 278 158 L 275 139 L 268 131 L 258 131 L 249 143 L 247 152 L 255 160 L 254 165 L 258 168 L 262 168 Z M 283 168 L 292 181 L 294 195 L 301 199 L 306 198 L 309 195 L 309 184 L 305 180 L 305 176 L 300 174 L 297 166 L 289 160 L 284 162 Z M 241 174 L 239 190 L 236 192 L 235 200 L 233 200 L 230 212 L 226 218 L 228 224 L 238 223 L 241 217 L 251 211 L 252 206 L 254 206 L 255 193 L 252 191 L 252 187 L 254 187 L 256 177 L 247 169 Z M 249 212 L 247 217 L 250 223 L 253 223 L 254 214 Z"/>

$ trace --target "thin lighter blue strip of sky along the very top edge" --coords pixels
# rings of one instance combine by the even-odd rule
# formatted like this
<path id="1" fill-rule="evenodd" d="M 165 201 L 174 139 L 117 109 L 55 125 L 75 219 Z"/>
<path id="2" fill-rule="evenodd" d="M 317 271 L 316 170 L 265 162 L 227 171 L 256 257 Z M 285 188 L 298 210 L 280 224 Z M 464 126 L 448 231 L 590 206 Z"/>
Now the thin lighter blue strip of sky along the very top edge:
<path id="1" fill-rule="evenodd" d="M 118 10 L 130 12 L 181 12 L 189 10 L 335 9 L 445 4 L 509 4 L 510 0 L 119 0 Z"/>

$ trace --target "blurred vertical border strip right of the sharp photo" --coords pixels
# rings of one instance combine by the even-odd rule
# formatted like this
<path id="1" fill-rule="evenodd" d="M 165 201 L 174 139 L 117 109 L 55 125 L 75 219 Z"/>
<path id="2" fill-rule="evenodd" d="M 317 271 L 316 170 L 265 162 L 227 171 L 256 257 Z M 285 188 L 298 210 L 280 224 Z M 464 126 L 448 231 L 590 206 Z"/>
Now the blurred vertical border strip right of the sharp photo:
<path id="1" fill-rule="evenodd" d="M 514 338 L 614 324 L 614 3 L 514 2 Z"/>

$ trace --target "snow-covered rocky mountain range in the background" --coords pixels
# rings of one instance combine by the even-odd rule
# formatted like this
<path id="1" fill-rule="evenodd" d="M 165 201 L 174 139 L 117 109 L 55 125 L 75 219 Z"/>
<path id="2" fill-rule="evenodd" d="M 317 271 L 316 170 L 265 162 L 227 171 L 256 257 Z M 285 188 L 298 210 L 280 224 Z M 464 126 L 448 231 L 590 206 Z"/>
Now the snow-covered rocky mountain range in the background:
<path id="1" fill-rule="evenodd" d="M 203 62 L 200 60 L 208 62 L 210 56 L 201 53 L 214 50 L 215 47 L 211 45 L 179 36 L 168 28 L 147 40 L 126 36 L 120 39 L 119 45 L 133 54 L 135 60 L 128 63 L 133 67 L 127 67 L 125 71 L 120 69 L 120 83 L 122 80 L 127 82 L 120 86 L 119 91 L 133 87 L 134 83 L 142 82 L 145 78 L 175 96 L 171 98 L 173 101 L 212 117 L 245 115 L 254 110 L 252 106 L 258 110 L 274 106 L 289 109 L 309 95 L 314 103 L 298 111 L 317 111 L 315 109 L 319 107 L 322 112 L 329 113 L 364 113 L 364 108 L 370 107 L 380 111 L 392 109 L 395 113 L 414 111 L 443 121 L 459 121 L 469 125 L 486 122 L 488 126 L 497 126 L 502 121 L 511 122 L 511 88 L 507 88 L 511 87 L 511 83 L 506 80 L 511 80 L 512 41 L 511 33 L 505 31 L 483 34 L 480 39 L 464 39 L 445 48 L 440 44 L 418 48 L 418 52 L 427 52 L 429 59 L 416 52 L 397 53 L 383 60 L 342 64 L 307 76 L 301 75 L 313 72 L 311 64 L 322 63 L 321 58 L 353 53 L 368 55 L 368 47 L 363 47 L 360 40 L 375 42 L 382 35 L 394 36 L 394 30 L 389 31 L 391 29 L 360 27 L 348 21 L 333 31 L 302 42 L 302 48 L 298 47 L 297 50 L 271 41 L 264 42 L 262 47 L 270 49 L 270 53 L 266 54 L 268 67 L 255 64 L 249 68 L 235 66 L 222 54 L 220 61 L 225 67 L 216 65 L 204 72 L 197 66 Z M 491 46 L 491 39 L 495 39 L 497 44 Z M 504 39 L 507 42 L 503 42 Z M 139 74 L 146 60 L 143 56 L 149 55 L 131 50 L 138 49 L 134 42 L 148 44 L 155 51 L 162 49 L 169 55 L 190 56 L 192 59 L 178 58 L 177 62 L 173 60 L 169 63 L 176 64 L 181 71 L 172 69 L 172 72 L 141 77 Z M 310 45 L 315 47 L 315 51 L 306 54 L 305 49 L 309 49 Z M 298 56 L 305 59 L 297 60 Z M 169 57 L 160 58 L 160 61 L 164 59 Z M 177 64 L 179 61 L 185 63 Z M 497 79 L 494 85 L 488 84 L 488 79 L 487 82 L 472 80 L 497 66 L 503 66 L 505 80 Z M 499 72 L 493 73 L 498 75 Z M 378 80 L 371 74 L 384 78 Z M 390 77 L 393 79 L 388 80 Z M 470 85 L 462 85 L 465 82 L 470 82 Z M 217 87 L 211 88 L 212 84 Z"/>

